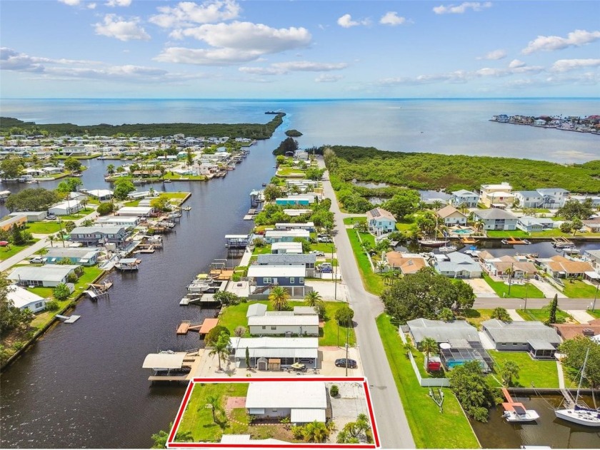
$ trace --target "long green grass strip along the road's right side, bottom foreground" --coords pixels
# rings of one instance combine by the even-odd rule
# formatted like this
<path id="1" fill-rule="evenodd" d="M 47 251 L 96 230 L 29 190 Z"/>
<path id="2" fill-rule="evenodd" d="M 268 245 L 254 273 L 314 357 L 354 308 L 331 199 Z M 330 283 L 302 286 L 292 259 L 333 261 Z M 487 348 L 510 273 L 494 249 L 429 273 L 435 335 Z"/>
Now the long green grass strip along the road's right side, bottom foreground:
<path id="1" fill-rule="evenodd" d="M 377 317 L 377 328 L 416 447 L 479 449 L 469 421 L 451 390 L 443 389 L 444 412 L 440 414 L 438 406 L 429 397 L 429 389 L 421 387 L 416 381 L 411 363 L 402 347 L 398 327 L 391 324 L 390 317 L 386 314 Z"/>

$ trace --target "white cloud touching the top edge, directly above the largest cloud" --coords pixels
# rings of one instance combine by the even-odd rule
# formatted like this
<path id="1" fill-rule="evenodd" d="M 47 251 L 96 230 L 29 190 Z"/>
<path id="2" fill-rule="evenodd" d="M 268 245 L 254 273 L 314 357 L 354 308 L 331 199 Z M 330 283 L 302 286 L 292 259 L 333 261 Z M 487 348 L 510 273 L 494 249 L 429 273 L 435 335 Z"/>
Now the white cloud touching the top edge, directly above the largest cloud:
<path id="1" fill-rule="evenodd" d="M 159 6 L 158 11 L 161 14 L 151 16 L 151 23 L 163 28 L 186 28 L 237 19 L 241 8 L 233 0 L 205 1 L 203 4 L 181 1 L 174 7 Z"/>

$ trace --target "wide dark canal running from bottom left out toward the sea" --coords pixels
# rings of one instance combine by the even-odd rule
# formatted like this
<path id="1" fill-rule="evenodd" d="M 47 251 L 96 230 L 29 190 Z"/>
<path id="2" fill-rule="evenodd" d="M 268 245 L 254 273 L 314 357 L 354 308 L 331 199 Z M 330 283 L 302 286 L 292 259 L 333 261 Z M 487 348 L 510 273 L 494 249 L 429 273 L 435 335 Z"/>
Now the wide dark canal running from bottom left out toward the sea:
<path id="1" fill-rule="evenodd" d="M 250 230 L 252 223 L 242 220 L 249 192 L 274 175 L 271 150 L 285 138 L 285 125 L 253 145 L 225 178 L 154 185 L 191 192 L 191 211 L 164 237 L 164 250 L 138 256 L 138 273 L 111 275 L 109 299 L 81 300 L 78 322 L 57 324 L 1 374 L 0 447 L 149 448 L 151 434 L 169 427 L 184 387 L 151 386 L 141 364 L 151 352 L 200 346 L 198 334 L 176 336 L 176 327 L 182 319 L 214 317 L 216 310 L 180 307 L 179 300 L 195 275 L 226 257 L 224 235 Z M 102 175 L 118 162 L 84 164 L 84 186 L 93 189 L 108 187 Z"/>

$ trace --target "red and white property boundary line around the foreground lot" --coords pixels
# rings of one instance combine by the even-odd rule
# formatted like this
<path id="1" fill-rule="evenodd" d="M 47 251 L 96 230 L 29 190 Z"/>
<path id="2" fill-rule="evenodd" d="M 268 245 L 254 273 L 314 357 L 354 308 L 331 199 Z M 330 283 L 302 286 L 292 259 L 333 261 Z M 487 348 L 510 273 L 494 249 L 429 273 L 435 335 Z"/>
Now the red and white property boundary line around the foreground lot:
<path id="1" fill-rule="evenodd" d="M 369 409 L 369 418 L 371 419 L 371 430 L 373 431 L 374 444 L 221 444 L 215 442 L 176 442 L 175 436 L 181 424 L 181 418 L 184 415 L 191 392 L 196 383 L 211 384 L 211 383 L 260 383 L 260 382 L 358 382 L 362 384 L 366 406 Z M 379 433 L 375 423 L 375 414 L 373 404 L 371 404 L 371 394 L 369 392 L 369 384 L 364 377 L 302 377 L 298 378 L 194 378 L 188 384 L 184 399 L 181 400 L 181 406 L 177 411 L 177 416 L 173 424 L 173 428 L 169 433 L 169 439 L 166 441 L 167 449 L 377 449 L 381 446 L 379 441 Z"/>

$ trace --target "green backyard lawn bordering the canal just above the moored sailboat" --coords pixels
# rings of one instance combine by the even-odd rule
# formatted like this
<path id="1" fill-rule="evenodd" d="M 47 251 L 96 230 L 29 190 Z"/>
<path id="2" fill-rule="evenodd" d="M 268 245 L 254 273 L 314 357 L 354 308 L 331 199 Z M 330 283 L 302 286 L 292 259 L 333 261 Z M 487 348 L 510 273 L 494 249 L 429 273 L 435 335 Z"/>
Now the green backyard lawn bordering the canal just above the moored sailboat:
<path id="1" fill-rule="evenodd" d="M 504 367 L 507 361 L 515 362 L 519 366 L 519 379 L 513 380 L 515 387 L 556 388 L 559 387 L 559 372 L 556 369 L 556 361 L 536 361 L 531 359 L 527 352 L 498 352 L 488 350 L 489 355 L 500 367 Z M 500 372 L 499 367 L 496 371 Z M 496 375 L 500 379 L 499 375 Z"/>

